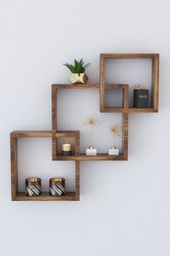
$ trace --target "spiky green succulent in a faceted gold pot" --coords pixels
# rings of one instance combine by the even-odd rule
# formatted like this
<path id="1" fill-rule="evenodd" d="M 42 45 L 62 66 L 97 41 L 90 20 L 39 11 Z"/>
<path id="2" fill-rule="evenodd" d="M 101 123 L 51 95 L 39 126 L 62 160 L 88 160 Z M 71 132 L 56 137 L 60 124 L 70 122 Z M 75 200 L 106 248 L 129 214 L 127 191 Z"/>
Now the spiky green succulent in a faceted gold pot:
<path id="1" fill-rule="evenodd" d="M 86 81 L 89 79 L 87 77 L 85 71 L 86 68 L 90 66 L 91 63 L 84 64 L 84 59 L 81 58 L 80 61 L 77 61 L 74 59 L 74 66 L 71 64 L 63 64 L 64 66 L 68 67 L 71 71 L 71 76 L 69 77 L 69 80 L 71 81 L 72 84 L 85 84 Z"/>

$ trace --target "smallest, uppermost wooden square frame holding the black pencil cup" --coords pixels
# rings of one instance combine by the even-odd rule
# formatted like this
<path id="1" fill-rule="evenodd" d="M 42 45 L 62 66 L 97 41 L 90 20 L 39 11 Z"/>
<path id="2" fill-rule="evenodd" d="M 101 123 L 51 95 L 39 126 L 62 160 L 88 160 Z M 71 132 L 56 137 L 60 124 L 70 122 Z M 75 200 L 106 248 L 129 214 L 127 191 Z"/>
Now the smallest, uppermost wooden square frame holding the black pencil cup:
<path id="1" fill-rule="evenodd" d="M 105 59 L 152 59 L 151 108 L 123 108 L 120 113 L 158 112 L 159 54 L 100 54 L 100 111 L 118 112 L 117 108 L 104 107 L 104 60 Z"/>

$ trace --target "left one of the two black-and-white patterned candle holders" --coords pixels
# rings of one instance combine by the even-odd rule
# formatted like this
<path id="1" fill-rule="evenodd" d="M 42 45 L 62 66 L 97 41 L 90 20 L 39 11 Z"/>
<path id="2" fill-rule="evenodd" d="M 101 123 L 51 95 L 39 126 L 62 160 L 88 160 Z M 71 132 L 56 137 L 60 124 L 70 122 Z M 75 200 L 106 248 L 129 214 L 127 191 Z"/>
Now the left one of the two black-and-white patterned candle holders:
<path id="1" fill-rule="evenodd" d="M 28 197 L 37 197 L 41 194 L 41 179 L 28 178 L 25 179 L 25 195 Z"/>

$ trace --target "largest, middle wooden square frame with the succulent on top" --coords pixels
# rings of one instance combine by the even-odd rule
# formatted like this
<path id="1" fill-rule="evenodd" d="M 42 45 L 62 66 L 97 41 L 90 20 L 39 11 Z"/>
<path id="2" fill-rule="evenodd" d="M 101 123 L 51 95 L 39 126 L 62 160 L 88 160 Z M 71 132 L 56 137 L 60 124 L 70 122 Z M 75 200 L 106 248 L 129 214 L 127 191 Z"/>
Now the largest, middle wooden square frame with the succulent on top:
<path id="1" fill-rule="evenodd" d="M 107 84 L 106 89 L 112 88 L 126 88 L 126 95 L 128 85 L 112 85 Z M 128 114 L 122 114 L 122 153 L 120 155 L 108 155 L 108 153 L 99 153 L 97 155 L 86 155 L 79 153 L 79 155 L 63 156 L 57 154 L 57 91 L 58 90 L 70 90 L 70 89 L 97 89 L 100 90 L 99 84 L 91 85 L 52 85 L 51 97 L 52 97 L 52 159 L 53 161 L 127 161 L 128 160 Z M 127 95 L 128 96 L 128 95 Z M 67 131 L 66 131 L 67 132 Z M 63 136 L 65 137 L 65 136 Z"/>

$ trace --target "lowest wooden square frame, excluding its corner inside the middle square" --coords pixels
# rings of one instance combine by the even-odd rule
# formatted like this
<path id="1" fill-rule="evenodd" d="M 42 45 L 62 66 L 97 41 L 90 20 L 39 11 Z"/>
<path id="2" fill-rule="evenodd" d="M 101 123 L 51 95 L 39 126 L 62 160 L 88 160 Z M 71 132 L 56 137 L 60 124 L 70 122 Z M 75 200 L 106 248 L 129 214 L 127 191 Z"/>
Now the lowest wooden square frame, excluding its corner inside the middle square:
<path id="1" fill-rule="evenodd" d="M 79 161 L 75 161 L 75 192 L 66 192 L 62 197 L 53 197 L 49 192 L 42 192 L 38 197 L 28 197 L 24 192 L 18 192 L 18 157 L 17 140 L 19 137 L 50 137 L 50 131 L 14 131 L 10 134 L 11 142 L 11 172 L 12 172 L 12 201 L 79 201 L 80 171 Z"/>

